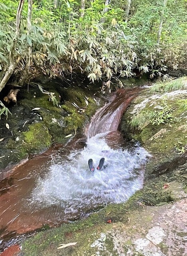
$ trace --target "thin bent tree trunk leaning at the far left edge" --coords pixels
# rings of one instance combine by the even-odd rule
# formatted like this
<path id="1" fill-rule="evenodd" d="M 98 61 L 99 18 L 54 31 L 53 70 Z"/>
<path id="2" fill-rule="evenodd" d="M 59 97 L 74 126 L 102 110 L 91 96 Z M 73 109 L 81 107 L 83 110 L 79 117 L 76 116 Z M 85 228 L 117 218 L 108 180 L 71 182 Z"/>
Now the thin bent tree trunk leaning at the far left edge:
<path id="1" fill-rule="evenodd" d="M 9 54 L 10 66 L 9 66 L 8 70 L 6 71 L 4 77 L 2 78 L 2 80 L 0 82 L 0 92 L 4 88 L 6 83 L 8 82 L 10 76 L 12 75 L 12 73 L 14 72 L 14 69 L 16 67 L 16 61 L 15 61 L 15 58 L 14 58 L 14 51 L 15 51 L 16 43 L 18 41 L 19 34 L 20 34 L 20 18 L 21 18 L 21 14 L 22 14 L 24 1 L 25 0 L 20 0 L 19 5 L 18 5 L 17 14 L 16 14 L 16 33 L 15 33 L 15 36 L 12 40 L 12 44 L 10 46 L 10 54 Z"/>

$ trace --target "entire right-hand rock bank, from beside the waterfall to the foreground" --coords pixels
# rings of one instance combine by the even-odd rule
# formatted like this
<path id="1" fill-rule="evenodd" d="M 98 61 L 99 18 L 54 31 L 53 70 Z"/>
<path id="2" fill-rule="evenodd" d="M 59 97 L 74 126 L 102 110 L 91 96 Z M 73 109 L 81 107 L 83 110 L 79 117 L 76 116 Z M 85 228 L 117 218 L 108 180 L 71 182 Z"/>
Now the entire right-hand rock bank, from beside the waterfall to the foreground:
<path id="1" fill-rule="evenodd" d="M 179 108 L 179 101 L 186 96 L 185 90 L 144 90 L 124 115 L 124 134 L 130 132 L 152 154 L 141 191 L 124 204 L 111 204 L 84 220 L 40 232 L 24 242 L 22 255 L 187 255 L 187 112 Z M 154 119 L 157 123 L 144 122 L 135 129 L 126 125 L 139 112 L 148 109 L 160 113 L 164 106 L 169 115 L 164 122 Z M 112 219 L 112 223 L 106 223 L 106 218 Z M 70 242 L 77 244 L 57 249 L 59 244 Z"/>

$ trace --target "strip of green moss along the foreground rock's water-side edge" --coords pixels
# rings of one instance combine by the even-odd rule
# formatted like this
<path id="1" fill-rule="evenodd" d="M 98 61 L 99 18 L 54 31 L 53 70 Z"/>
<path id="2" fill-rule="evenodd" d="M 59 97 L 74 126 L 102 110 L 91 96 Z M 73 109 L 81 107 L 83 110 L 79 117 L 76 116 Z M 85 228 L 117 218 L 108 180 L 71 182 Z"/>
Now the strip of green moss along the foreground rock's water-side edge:
<path id="1" fill-rule="evenodd" d="M 67 248 L 63 251 L 66 253 L 65 255 L 77 256 L 89 255 L 89 252 L 94 253 L 90 245 L 100 237 L 100 230 L 102 230 L 102 233 L 107 232 L 117 222 L 127 223 L 129 218 L 133 218 L 134 210 L 136 210 L 136 214 L 138 214 L 138 211 L 142 211 L 142 206 L 138 202 L 149 201 L 154 205 L 159 205 L 174 200 L 172 191 L 163 189 L 163 182 L 164 180 L 147 182 L 144 189 L 136 192 L 126 203 L 110 204 L 99 212 L 91 214 L 85 220 L 77 220 L 74 223 L 63 224 L 61 227 L 47 232 L 40 232 L 37 236 L 24 242 L 24 256 L 61 255 L 61 252 L 56 249 L 57 246 L 72 241 L 79 241 L 78 247 Z M 106 218 L 111 218 L 112 223 L 107 224 Z M 136 230 L 133 232 L 136 232 Z M 109 252 L 113 248 L 113 241 L 109 236 L 106 238 L 106 248 Z M 112 253 L 112 255 L 115 255 L 116 251 L 114 250 Z"/>

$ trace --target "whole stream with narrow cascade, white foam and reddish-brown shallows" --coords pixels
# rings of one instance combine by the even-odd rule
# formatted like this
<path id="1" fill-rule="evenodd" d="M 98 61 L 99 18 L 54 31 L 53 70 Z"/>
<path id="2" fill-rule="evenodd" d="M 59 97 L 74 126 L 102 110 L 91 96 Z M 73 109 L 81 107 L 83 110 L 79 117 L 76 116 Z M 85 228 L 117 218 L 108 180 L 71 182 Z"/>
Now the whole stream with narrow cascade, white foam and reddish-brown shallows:
<path id="1" fill-rule="evenodd" d="M 138 90 L 119 90 L 112 102 L 101 108 L 87 129 L 85 147 L 78 139 L 28 161 L 7 179 L 0 197 L 1 236 L 22 234 L 43 224 L 54 226 L 73 220 L 108 203 L 125 202 L 143 186 L 148 152 L 138 144 L 124 147 L 117 131 L 122 113 Z M 95 167 L 108 145 L 104 170 Z"/>

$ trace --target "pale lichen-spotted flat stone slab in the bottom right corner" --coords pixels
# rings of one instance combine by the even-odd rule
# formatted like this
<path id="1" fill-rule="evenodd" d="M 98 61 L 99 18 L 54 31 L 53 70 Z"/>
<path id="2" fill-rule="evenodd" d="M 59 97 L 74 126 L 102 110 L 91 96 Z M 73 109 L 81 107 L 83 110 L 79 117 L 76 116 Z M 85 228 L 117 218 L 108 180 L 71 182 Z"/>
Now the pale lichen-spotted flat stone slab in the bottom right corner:
<path id="1" fill-rule="evenodd" d="M 114 224 L 91 243 L 93 255 L 106 255 L 106 242 L 112 238 L 108 255 L 185 256 L 187 255 L 187 199 L 173 204 L 142 208 L 128 224 Z M 113 252 L 112 252 L 113 251 Z M 114 253 L 115 251 L 115 253 Z"/>

